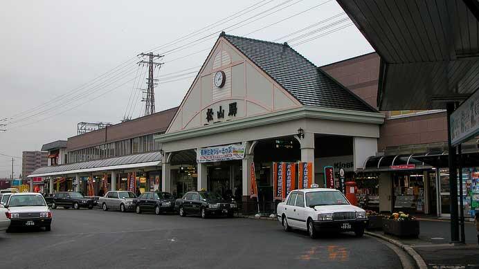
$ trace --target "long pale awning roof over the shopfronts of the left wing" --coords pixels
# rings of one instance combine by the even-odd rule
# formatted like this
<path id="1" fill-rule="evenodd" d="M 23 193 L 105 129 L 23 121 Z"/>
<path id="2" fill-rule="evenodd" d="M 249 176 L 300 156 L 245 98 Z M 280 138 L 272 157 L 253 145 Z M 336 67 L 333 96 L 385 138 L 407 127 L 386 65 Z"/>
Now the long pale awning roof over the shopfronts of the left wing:
<path id="1" fill-rule="evenodd" d="M 156 151 L 146 154 L 135 154 L 102 160 L 91 160 L 83 163 L 72 163 L 69 165 L 40 167 L 33 171 L 28 178 L 37 176 L 62 176 L 116 169 L 132 169 L 138 167 L 154 167 L 159 165 L 161 165 L 161 153 Z"/>

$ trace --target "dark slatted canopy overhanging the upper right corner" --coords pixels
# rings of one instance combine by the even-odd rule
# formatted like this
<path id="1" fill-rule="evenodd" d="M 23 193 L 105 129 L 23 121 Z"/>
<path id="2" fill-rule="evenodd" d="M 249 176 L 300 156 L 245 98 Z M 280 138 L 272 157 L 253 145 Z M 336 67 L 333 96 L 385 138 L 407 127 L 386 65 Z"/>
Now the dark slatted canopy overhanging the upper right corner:
<path id="1" fill-rule="evenodd" d="M 337 0 L 381 56 L 379 110 L 444 109 L 479 87 L 473 0 Z"/>

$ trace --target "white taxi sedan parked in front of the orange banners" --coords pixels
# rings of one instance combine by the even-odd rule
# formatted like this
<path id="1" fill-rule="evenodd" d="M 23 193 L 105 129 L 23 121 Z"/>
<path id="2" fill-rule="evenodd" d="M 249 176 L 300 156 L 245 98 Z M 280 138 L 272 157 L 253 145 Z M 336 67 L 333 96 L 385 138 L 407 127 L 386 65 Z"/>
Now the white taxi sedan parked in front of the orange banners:
<path id="1" fill-rule="evenodd" d="M 285 231 L 307 230 L 311 238 L 318 232 L 354 232 L 363 236 L 368 224 L 366 212 L 351 205 L 336 189 L 296 189 L 276 209 Z"/>

